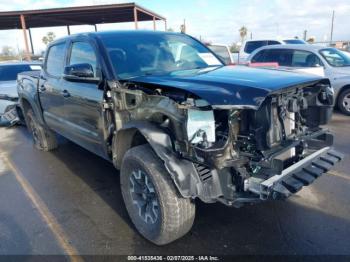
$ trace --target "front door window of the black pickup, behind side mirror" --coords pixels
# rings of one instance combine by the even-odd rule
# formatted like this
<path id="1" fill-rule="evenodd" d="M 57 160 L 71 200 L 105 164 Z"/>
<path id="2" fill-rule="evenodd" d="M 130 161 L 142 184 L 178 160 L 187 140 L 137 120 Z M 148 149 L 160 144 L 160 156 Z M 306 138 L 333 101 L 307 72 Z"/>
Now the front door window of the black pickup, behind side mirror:
<path id="1" fill-rule="evenodd" d="M 90 64 L 94 70 L 94 75 L 97 72 L 97 58 L 94 49 L 87 42 L 74 42 L 71 49 L 69 65 L 75 64 Z"/>

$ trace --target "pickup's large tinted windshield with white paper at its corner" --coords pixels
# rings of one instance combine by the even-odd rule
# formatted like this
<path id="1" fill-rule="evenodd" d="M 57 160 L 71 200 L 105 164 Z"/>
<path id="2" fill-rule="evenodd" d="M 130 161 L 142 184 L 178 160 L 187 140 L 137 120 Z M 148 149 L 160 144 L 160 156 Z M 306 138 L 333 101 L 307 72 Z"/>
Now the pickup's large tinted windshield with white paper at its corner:
<path id="1" fill-rule="evenodd" d="M 120 79 L 223 65 L 206 46 L 186 35 L 126 33 L 102 40 Z"/>

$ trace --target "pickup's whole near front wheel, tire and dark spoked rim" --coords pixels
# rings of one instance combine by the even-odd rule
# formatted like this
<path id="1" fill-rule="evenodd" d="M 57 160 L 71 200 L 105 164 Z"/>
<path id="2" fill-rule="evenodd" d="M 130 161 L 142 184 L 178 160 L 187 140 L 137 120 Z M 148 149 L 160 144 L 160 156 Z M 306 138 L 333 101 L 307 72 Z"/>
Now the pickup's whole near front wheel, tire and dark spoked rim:
<path id="1" fill-rule="evenodd" d="M 129 216 L 146 239 L 165 245 L 191 229 L 195 204 L 179 195 L 169 173 L 149 145 L 128 150 L 120 180 Z"/>

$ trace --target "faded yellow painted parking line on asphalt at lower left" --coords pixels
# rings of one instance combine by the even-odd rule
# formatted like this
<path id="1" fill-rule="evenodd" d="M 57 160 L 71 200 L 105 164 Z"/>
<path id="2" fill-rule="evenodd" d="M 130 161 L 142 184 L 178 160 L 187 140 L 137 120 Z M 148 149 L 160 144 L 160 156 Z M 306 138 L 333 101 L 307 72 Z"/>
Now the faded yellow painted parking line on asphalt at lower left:
<path id="1" fill-rule="evenodd" d="M 70 256 L 70 260 L 74 262 L 83 261 L 83 259 L 78 255 L 78 251 L 69 243 L 69 238 L 67 237 L 64 230 L 61 228 L 60 224 L 57 222 L 54 215 L 50 212 L 46 204 L 35 192 L 33 187 L 23 176 L 23 174 L 16 168 L 16 166 L 5 154 L 0 154 L 0 161 L 2 162 L 2 164 L 5 164 L 11 170 L 27 197 L 36 207 L 45 223 L 49 226 L 50 230 L 54 234 L 61 248 L 68 256 Z"/>

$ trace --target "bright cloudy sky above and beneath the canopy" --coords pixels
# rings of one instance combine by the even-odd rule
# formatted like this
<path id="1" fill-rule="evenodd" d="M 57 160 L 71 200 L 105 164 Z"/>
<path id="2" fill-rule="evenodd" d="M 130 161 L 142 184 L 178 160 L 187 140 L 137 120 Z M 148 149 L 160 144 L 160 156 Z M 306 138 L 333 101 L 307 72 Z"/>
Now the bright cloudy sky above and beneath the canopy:
<path id="1" fill-rule="evenodd" d="M 238 42 L 239 28 L 246 26 L 253 39 L 308 37 L 329 41 L 332 11 L 335 11 L 333 40 L 350 40 L 350 0 L 0 0 L 0 11 L 30 10 L 80 5 L 136 2 L 168 20 L 168 28 L 180 30 L 186 20 L 187 33 L 213 43 Z M 98 25 L 98 30 L 134 29 L 133 23 Z M 139 23 L 152 29 L 152 22 Z M 157 22 L 164 30 L 164 23 Z M 71 33 L 93 31 L 92 26 L 72 26 Z M 65 27 L 34 28 L 35 53 L 45 49 L 42 37 L 49 31 L 56 37 L 67 35 Z M 20 30 L 0 31 L 0 48 L 24 49 Z"/>

